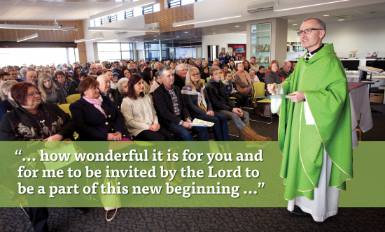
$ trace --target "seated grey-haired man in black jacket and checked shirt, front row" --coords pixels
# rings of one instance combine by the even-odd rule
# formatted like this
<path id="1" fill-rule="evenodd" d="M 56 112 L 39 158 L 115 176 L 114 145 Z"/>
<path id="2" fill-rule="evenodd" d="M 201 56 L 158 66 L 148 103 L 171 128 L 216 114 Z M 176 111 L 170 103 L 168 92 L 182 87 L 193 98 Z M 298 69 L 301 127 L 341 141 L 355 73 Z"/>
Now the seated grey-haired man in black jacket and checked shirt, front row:
<path id="1" fill-rule="evenodd" d="M 188 129 L 198 133 L 198 140 L 208 141 L 209 135 L 204 126 L 191 126 L 192 119 L 188 108 L 183 102 L 181 89 L 174 84 L 172 68 L 162 66 L 159 69 L 162 84 L 155 89 L 153 101 L 161 126 L 167 131 L 181 137 L 183 141 L 195 141 Z"/>

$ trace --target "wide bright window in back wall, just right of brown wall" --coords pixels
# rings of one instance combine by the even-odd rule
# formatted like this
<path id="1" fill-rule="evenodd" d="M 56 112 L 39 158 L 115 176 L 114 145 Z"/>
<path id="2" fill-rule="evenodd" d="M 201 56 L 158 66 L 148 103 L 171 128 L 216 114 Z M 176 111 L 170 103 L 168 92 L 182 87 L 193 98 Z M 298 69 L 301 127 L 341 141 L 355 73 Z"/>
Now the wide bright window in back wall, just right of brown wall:
<path id="1" fill-rule="evenodd" d="M 99 60 L 134 59 L 132 43 L 97 43 Z"/>

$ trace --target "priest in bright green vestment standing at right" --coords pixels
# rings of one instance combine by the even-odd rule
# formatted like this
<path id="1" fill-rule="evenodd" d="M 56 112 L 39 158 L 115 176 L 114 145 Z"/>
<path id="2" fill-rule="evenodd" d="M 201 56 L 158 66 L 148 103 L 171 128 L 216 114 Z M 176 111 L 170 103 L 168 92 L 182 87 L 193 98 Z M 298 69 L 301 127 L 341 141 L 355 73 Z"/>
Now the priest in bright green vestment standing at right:
<path id="1" fill-rule="evenodd" d="M 337 214 L 339 191 L 353 178 L 349 88 L 332 43 L 322 43 L 325 33 L 323 20 L 305 19 L 297 34 L 307 53 L 284 82 L 267 86 L 290 95 L 272 99 L 288 210 L 316 222 Z"/>

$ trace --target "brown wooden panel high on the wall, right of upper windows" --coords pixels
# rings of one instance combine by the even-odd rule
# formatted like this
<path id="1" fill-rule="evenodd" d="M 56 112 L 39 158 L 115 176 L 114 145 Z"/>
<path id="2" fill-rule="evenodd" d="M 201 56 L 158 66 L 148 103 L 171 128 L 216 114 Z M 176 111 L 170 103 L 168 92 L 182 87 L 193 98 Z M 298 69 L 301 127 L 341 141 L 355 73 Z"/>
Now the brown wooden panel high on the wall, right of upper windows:
<path id="1" fill-rule="evenodd" d="M 188 4 L 185 6 L 178 6 L 144 15 L 145 24 L 160 22 L 160 32 L 194 28 L 194 24 L 181 27 L 172 27 L 174 20 L 175 22 L 194 20 L 194 5 Z M 153 33 L 146 32 L 146 34 Z"/>

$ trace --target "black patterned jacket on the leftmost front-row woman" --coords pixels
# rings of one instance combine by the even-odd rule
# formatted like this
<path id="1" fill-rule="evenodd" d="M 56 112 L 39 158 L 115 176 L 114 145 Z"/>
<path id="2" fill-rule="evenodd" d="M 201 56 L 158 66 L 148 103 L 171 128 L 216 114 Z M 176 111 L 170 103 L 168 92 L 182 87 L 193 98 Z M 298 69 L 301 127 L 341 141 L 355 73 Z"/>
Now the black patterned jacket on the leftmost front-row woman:
<path id="1" fill-rule="evenodd" d="M 60 134 L 63 138 L 73 139 L 75 124 L 69 114 L 64 113 L 55 104 L 41 103 L 38 108 L 45 110 L 49 115 L 49 129 L 52 131 L 50 136 Z M 0 122 L 0 141 L 37 141 L 41 140 L 42 134 L 43 126 L 41 123 L 22 107 L 6 113 Z"/>

